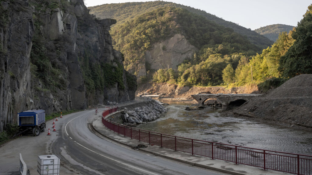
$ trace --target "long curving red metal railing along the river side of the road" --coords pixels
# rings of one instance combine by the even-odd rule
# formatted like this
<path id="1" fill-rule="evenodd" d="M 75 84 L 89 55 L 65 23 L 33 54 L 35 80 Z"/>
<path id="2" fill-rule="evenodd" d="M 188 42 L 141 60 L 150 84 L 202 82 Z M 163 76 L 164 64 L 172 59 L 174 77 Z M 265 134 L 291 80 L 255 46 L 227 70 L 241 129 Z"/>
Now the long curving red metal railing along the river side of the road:
<path id="1" fill-rule="evenodd" d="M 115 111 L 117 111 L 117 108 L 104 111 L 102 113 L 102 123 L 110 130 L 131 139 L 236 164 L 240 163 L 298 175 L 312 175 L 312 156 L 309 155 L 220 144 L 140 130 L 109 121 L 105 118 L 108 114 Z"/>

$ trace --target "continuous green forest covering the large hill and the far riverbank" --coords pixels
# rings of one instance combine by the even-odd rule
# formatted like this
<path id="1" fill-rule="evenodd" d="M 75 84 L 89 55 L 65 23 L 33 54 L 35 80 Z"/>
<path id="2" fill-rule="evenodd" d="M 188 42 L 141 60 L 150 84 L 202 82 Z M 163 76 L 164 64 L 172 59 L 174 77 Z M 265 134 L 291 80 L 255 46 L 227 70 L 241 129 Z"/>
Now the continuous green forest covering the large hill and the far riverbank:
<path id="1" fill-rule="evenodd" d="M 121 21 L 112 27 L 113 42 L 124 54 L 127 70 L 133 71 L 137 76 L 139 70 L 146 70 L 145 75 L 138 76 L 142 82 L 152 78 L 157 83 L 181 86 L 223 84 L 230 87 L 252 83 L 259 84 L 266 90 L 279 86 L 297 74 L 312 73 L 312 38 L 309 27 L 312 22 L 311 6 L 294 31 L 280 33 L 273 45 L 268 47 L 268 44 L 262 47 L 264 50 L 259 50 L 261 40 L 253 45 L 258 34 L 253 37 L 241 35 L 246 30 L 236 33 L 237 25 L 233 25 L 234 23 L 191 7 L 159 8 L 170 5 L 182 6 L 157 1 L 106 4 L 91 8 L 94 14 L 101 10 L 105 12 L 99 12 L 98 16 L 106 14 L 102 17 Z M 219 25 L 220 23 L 232 27 Z M 146 54 L 157 45 L 162 46 L 157 51 L 164 52 L 167 48 L 161 41 L 174 38 L 177 34 L 185 36 L 197 50 L 177 67 L 151 69 L 153 63 L 146 61 L 149 60 Z M 142 61 L 145 61 L 143 66 L 140 65 Z"/>

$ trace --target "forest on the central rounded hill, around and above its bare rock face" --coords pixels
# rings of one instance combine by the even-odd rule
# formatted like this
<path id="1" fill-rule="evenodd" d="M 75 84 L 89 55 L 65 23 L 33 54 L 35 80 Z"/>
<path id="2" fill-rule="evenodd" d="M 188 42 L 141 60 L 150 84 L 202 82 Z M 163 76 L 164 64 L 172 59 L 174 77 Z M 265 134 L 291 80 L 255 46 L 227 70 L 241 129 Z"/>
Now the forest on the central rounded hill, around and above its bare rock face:
<path id="1" fill-rule="evenodd" d="M 192 45 L 198 50 L 202 50 L 201 53 L 206 52 L 202 58 L 196 57 L 196 60 L 193 61 L 194 64 L 206 60 L 210 54 L 219 54 L 222 57 L 220 59 L 223 59 L 223 55 L 227 54 L 254 55 L 258 51 L 257 47 L 251 44 L 246 37 L 235 33 L 231 28 L 218 25 L 181 8 L 158 8 L 119 24 L 111 31 L 115 48 L 124 54 L 126 70 L 136 75 L 140 69 L 137 65 L 144 62 L 145 51 L 151 49 L 155 42 L 168 39 L 177 33 L 185 35 Z M 220 67 L 219 69 L 222 71 L 224 68 Z M 147 66 L 146 71 L 148 72 L 147 76 L 151 76 L 149 73 L 154 70 L 150 70 Z"/>

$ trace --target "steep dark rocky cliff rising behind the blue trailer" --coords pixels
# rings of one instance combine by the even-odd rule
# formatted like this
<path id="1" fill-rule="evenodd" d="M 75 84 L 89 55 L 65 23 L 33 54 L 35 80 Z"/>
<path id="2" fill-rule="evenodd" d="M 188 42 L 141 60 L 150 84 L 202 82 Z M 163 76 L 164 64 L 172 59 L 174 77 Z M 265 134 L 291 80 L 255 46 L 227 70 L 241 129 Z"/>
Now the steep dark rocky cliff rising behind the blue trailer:
<path id="1" fill-rule="evenodd" d="M 134 99 L 135 77 L 109 34 L 116 20 L 97 20 L 83 0 L 4 0 L 0 18 L 0 131 L 22 110 Z"/>

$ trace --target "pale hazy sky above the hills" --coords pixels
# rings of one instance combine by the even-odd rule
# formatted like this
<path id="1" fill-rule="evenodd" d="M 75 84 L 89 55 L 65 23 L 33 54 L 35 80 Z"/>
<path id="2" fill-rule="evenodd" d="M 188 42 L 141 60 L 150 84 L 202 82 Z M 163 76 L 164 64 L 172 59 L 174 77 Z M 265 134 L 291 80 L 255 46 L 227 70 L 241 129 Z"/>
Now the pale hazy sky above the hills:
<path id="1" fill-rule="evenodd" d="M 132 0 L 84 0 L 87 7 Z M 149 0 L 151 1 L 151 0 Z M 204 10 L 240 26 L 257 28 L 271 24 L 297 26 L 311 0 L 165 0 Z"/>

